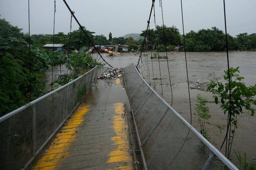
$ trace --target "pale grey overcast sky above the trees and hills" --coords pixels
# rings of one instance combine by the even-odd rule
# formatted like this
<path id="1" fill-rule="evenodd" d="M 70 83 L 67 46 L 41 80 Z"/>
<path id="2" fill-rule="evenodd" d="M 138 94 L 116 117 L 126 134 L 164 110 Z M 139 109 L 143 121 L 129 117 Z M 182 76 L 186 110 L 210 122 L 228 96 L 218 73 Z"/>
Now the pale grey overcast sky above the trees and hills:
<path id="1" fill-rule="evenodd" d="M 141 33 L 147 28 L 152 0 L 66 0 L 82 26 L 103 34 L 108 39 L 128 33 Z M 30 33 L 53 34 L 54 0 L 30 0 Z M 256 0 L 226 0 L 227 32 L 256 33 Z M 163 17 L 166 26 L 182 29 L 181 3 L 179 0 L 162 0 Z M 197 32 L 213 26 L 225 31 L 223 0 L 182 0 L 184 32 Z M 155 28 L 154 11 L 150 28 Z M 159 0 L 155 2 L 156 25 L 162 25 Z M 13 26 L 28 32 L 28 0 L 0 0 L 0 15 Z M 70 12 L 63 0 L 56 0 L 55 33 L 70 30 Z M 72 31 L 79 28 L 72 19 Z"/>

